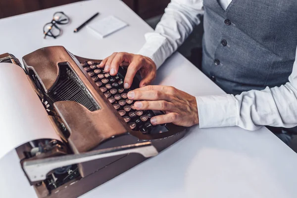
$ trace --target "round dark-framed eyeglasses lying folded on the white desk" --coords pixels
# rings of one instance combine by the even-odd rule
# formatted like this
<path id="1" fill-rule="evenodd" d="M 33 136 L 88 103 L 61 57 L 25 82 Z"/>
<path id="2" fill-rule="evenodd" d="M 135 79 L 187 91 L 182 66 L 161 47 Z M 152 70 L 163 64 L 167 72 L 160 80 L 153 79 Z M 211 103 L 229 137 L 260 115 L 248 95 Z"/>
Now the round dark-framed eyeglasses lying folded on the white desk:
<path id="1" fill-rule="evenodd" d="M 62 30 L 57 25 L 66 25 L 70 22 L 70 18 L 64 12 L 55 12 L 52 20 L 44 26 L 44 35 L 57 38 L 62 34 Z"/>

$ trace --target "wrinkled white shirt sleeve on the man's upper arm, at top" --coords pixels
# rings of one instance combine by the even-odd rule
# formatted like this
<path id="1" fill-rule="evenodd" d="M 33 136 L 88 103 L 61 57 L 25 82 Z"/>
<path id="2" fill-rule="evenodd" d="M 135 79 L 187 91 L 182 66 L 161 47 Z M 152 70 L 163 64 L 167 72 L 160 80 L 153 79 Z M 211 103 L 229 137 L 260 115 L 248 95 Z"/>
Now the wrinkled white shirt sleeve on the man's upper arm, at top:
<path id="1" fill-rule="evenodd" d="M 200 23 L 202 7 L 203 0 L 171 0 L 155 31 L 145 35 L 146 44 L 138 54 L 148 56 L 159 68 Z"/>

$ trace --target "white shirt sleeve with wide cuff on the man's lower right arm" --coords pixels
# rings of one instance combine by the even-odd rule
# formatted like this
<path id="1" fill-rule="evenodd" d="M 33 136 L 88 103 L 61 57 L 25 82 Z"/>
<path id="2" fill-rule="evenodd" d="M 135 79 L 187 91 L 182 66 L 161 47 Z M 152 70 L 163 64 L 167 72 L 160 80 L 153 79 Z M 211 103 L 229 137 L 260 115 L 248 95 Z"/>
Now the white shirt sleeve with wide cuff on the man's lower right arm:
<path id="1" fill-rule="evenodd" d="M 239 126 L 256 130 L 263 125 L 297 126 L 297 51 L 289 82 L 280 87 L 240 95 L 196 97 L 199 127 Z"/>

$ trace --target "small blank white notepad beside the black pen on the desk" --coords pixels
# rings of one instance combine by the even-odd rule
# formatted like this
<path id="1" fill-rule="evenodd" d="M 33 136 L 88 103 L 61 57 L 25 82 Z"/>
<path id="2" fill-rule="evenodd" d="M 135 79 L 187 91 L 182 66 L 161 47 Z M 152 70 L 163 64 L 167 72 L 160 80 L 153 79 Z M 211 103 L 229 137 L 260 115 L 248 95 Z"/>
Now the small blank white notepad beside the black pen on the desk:
<path id="1" fill-rule="evenodd" d="M 124 27 L 128 24 L 116 18 L 115 16 L 107 16 L 98 21 L 94 21 L 92 24 L 88 25 L 88 28 L 95 31 L 99 37 L 104 38 Z"/>

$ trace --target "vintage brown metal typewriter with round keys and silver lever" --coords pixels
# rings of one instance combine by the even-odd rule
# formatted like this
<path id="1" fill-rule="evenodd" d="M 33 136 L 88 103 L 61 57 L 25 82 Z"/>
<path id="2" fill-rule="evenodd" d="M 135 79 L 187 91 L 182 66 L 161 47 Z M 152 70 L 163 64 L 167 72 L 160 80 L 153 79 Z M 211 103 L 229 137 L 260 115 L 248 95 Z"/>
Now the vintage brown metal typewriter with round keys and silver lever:
<path id="1" fill-rule="evenodd" d="M 8 53 L 0 55 L 0 62 L 21 66 Z M 126 69 L 110 76 L 99 63 L 60 46 L 23 57 L 32 89 L 61 137 L 16 148 L 39 198 L 79 197 L 185 135 L 185 128 L 174 124 L 152 126 L 150 118 L 163 112 L 135 110 L 135 101 L 127 98 L 130 89 L 123 87 Z M 136 77 L 131 89 L 138 86 Z"/>

